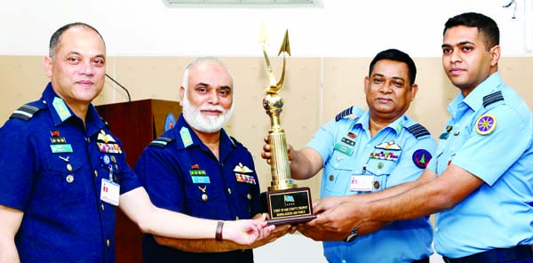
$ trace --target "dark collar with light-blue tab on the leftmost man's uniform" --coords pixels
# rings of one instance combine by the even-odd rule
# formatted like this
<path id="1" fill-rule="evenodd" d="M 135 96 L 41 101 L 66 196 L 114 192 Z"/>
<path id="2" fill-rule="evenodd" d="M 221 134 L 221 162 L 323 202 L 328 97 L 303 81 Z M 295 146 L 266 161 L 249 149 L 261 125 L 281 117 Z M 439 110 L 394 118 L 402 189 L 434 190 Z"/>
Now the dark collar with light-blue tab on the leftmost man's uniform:
<path id="1" fill-rule="evenodd" d="M 67 103 L 65 103 L 65 101 L 53 91 L 52 83 L 46 85 L 43 92 L 43 100 L 46 106 L 50 109 L 54 126 L 59 126 L 70 118 L 77 118 L 74 112 L 68 107 Z M 93 134 L 93 132 L 99 131 L 104 127 L 104 123 L 100 119 L 98 112 L 92 103 L 87 109 L 85 126 L 88 134 Z"/>

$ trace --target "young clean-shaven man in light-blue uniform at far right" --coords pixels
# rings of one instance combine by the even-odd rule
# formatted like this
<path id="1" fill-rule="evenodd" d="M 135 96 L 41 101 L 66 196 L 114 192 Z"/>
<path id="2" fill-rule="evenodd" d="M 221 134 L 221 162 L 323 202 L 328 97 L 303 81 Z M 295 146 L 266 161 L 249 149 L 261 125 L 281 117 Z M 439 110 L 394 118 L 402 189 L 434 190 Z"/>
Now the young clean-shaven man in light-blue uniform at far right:
<path id="1" fill-rule="evenodd" d="M 314 224 L 348 235 L 439 212 L 434 246 L 446 262 L 533 262 L 533 115 L 497 72 L 497 23 L 466 12 L 443 35 L 442 66 L 459 94 L 436 162 L 417 181 L 330 207 Z"/>

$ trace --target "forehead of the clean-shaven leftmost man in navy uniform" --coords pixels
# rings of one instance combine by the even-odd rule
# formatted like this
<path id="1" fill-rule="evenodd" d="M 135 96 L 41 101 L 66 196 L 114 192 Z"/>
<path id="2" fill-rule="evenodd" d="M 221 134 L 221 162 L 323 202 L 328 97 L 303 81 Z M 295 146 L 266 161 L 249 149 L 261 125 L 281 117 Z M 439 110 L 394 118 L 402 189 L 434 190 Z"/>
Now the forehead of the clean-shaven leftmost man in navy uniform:
<path id="1" fill-rule="evenodd" d="M 91 28 L 68 28 L 60 36 L 56 52 L 77 52 L 88 56 L 105 56 L 106 44 Z"/>

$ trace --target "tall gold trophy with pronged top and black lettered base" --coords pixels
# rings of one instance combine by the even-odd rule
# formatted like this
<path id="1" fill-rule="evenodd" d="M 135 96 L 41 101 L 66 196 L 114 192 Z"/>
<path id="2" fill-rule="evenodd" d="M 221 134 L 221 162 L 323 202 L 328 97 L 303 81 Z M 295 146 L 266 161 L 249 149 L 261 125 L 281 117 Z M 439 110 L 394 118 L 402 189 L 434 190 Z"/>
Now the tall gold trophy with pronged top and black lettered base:
<path id="1" fill-rule="evenodd" d="M 266 193 L 261 194 L 263 205 L 267 206 L 268 224 L 285 225 L 297 224 L 310 221 L 316 216 L 313 214 L 311 203 L 311 190 L 309 187 L 298 187 L 290 179 L 289 156 L 287 155 L 287 139 L 285 131 L 280 126 L 280 113 L 282 112 L 283 100 L 278 95 L 285 78 L 286 58 L 285 53 L 290 56 L 289 30 L 285 31 L 282 47 L 278 56 L 283 53 L 283 67 L 280 81 L 276 83 L 274 72 L 268 60 L 265 44 L 267 37 L 264 28 L 261 28 L 261 43 L 263 55 L 267 63 L 268 78 L 270 87 L 265 90 L 263 108 L 270 116 L 270 130 L 268 131 L 268 141 L 270 144 L 270 171 L 272 173 L 271 186 Z M 266 201 L 265 201 L 266 199 Z"/>

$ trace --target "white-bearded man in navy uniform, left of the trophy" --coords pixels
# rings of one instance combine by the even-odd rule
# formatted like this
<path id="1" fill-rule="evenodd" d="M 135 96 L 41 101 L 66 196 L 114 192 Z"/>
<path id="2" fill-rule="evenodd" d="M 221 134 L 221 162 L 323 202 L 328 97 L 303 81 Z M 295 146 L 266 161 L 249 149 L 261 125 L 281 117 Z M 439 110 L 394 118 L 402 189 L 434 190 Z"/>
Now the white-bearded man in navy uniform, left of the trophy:
<path id="1" fill-rule="evenodd" d="M 251 153 L 222 128 L 233 112 L 233 93 L 233 77 L 219 60 L 199 58 L 187 66 L 179 88 L 182 115 L 135 165 L 156 206 L 204 219 L 250 219 L 259 212 Z M 288 228 L 278 227 L 249 247 L 144 235 L 143 258 L 154 263 L 253 262 L 252 247 L 274 241 Z M 219 252 L 201 253 L 209 251 Z"/>

